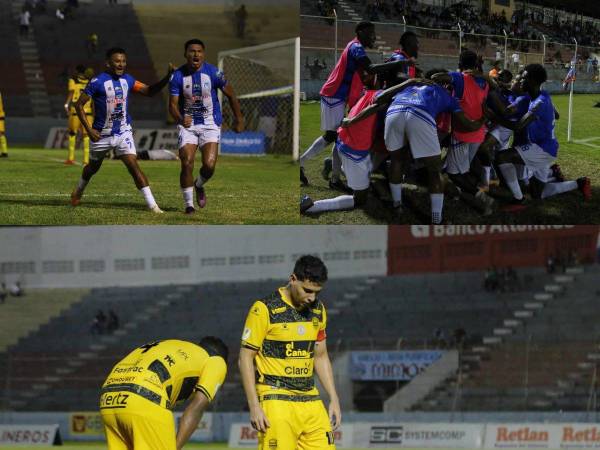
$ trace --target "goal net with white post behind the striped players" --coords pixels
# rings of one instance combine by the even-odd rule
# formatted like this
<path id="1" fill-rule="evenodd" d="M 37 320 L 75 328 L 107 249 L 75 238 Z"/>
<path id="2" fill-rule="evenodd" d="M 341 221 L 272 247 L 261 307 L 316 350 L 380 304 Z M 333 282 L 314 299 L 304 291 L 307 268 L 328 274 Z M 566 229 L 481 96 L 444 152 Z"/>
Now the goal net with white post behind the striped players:
<path id="1" fill-rule="evenodd" d="M 246 153 L 244 142 L 262 139 L 264 153 L 298 158 L 299 47 L 294 38 L 219 52 L 219 70 L 235 90 L 251 135 L 227 135 L 240 141 L 240 153 Z M 223 130 L 230 130 L 233 113 L 226 98 L 221 104 Z"/>

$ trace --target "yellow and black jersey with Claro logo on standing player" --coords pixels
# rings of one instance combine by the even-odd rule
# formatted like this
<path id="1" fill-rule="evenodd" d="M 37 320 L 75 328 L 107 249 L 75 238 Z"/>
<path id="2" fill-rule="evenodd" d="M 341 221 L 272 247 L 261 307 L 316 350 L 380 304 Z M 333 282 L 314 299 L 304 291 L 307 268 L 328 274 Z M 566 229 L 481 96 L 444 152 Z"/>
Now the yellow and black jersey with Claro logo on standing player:
<path id="1" fill-rule="evenodd" d="M 315 343 L 325 339 L 327 315 L 320 301 L 293 307 L 280 288 L 250 308 L 242 346 L 257 350 L 256 389 L 260 398 L 318 395 L 313 368 Z"/>

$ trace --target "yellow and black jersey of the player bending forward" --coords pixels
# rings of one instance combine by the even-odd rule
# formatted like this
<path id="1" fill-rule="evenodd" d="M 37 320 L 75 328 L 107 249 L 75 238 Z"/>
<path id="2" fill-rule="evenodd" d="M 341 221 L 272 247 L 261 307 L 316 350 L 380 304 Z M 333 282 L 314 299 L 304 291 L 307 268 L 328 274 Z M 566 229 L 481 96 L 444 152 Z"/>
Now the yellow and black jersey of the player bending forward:
<path id="1" fill-rule="evenodd" d="M 113 367 L 102 386 L 103 399 L 112 392 L 133 392 L 171 409 L 201 391 L 212 401 L 225 380 L 227 364 L 221 356 L 180 340 L 143 345 Z"/>

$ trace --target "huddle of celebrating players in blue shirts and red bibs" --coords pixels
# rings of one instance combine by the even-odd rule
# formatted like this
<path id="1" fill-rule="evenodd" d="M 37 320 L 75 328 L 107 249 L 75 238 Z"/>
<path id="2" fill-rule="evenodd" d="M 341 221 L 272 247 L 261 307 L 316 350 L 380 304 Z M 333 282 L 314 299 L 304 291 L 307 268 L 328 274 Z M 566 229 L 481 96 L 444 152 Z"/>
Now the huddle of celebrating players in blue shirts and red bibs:
<path id="1" fill-rule="evenodd" d="M 496 179 L 510 191 L 508 211 L 525 207 L 524 188 L 535 199 L 577 189 L 585 200 L 591 198 L 589 178 L 566 181 L 555 164 L 558 112 L 542 89 L 547 80 L 542 65 L 529 64 L 515 76 L 508 70 L 484 74 L 482 58 L 462 49 L 458 71 L 432 69 L 423 75 L 413 32 L 401 36 L 401 48 L 385 63 L 373 64 L 365 47 L 373 47 L 374 25 L 361 22 L 355 31 L 320 91 L 325 133 L 300 158 L 306 186 L 306 161 L 334 143 L 326 160 L 329 185 L 351 195 L 316 201 L 303 196 L 301 214 L 365 205 L 377 170 L 387 178 L 398 218 L 402 183 L 424 184 L 434 224 L 442 223 L 445 193 L 491 214 L 495 201 L 489 186 Z M 447 148 L 444 160 L 442 148 Z M 347 186 L 340 181 L 342 172 Z"/>

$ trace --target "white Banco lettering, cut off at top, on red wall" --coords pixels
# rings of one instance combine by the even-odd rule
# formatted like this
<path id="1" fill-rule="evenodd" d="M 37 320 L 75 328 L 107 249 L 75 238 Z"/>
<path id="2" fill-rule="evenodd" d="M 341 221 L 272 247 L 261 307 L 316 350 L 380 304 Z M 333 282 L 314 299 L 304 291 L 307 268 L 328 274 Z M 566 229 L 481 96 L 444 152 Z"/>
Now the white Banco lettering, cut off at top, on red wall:
<path id="1" fill-rule="evenodd" d="M 574 225 L 411 225 L 414 238 L 480 236 L 483 234 L 523 233 L 573 228 Z"/>

